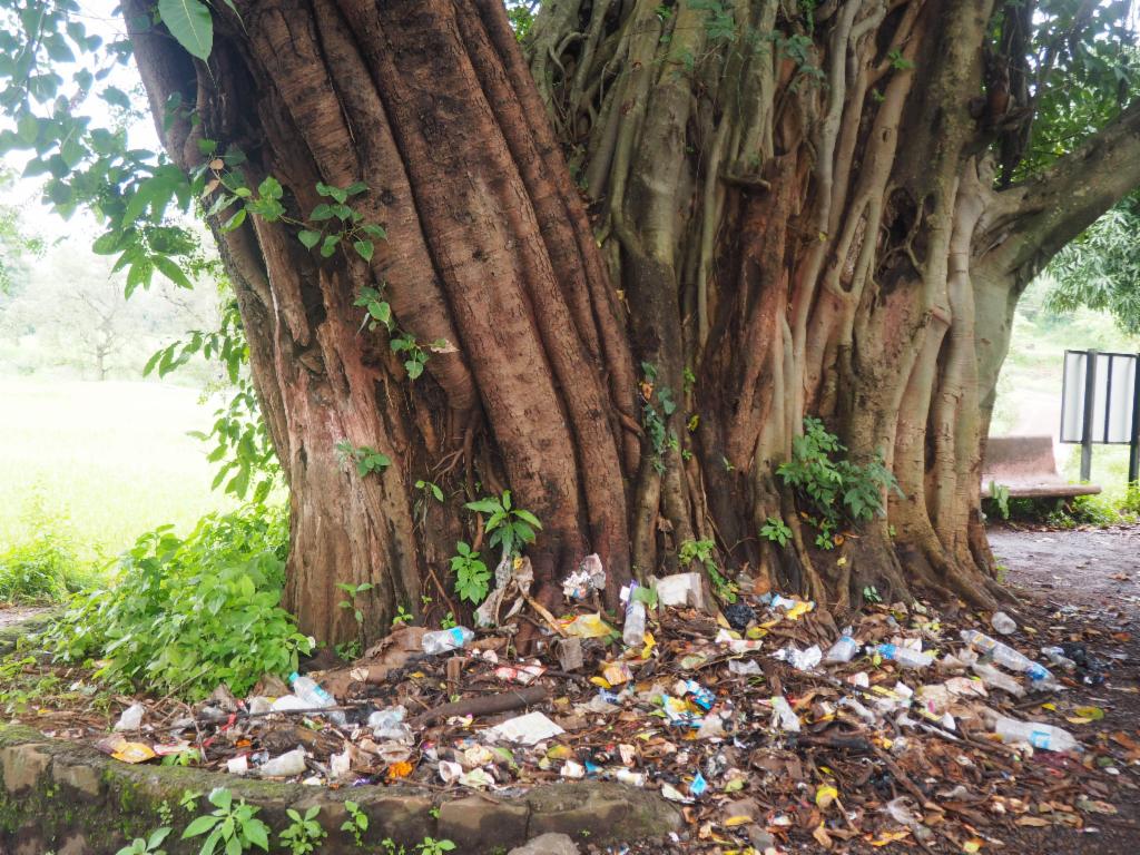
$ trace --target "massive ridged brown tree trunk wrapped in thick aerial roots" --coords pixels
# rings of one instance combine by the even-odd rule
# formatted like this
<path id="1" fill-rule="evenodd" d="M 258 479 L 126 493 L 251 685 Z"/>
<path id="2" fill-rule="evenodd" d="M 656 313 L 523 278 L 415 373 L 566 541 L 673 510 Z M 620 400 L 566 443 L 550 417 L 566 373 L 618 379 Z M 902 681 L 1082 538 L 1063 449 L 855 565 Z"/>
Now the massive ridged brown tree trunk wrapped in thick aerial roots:
<path id="1" fill-rule="evenodd" d="M 500 0 L 237 8 L 217 10 L 209 71 L 135 35 L 155 115 L 195 105 L 168 152 L 193 168 L 199 139 L 241 146 L 294 221 L 318 182 L 364 181 L 388 231 L 365 263 L 288 222 L 214 223 L 290 481 L 304 630 L 356 632 L 336 583 L 376 585 L 368 635 L 422 594 L 442 605 L 455 540 L 478 537 L 464 502 L 503 489 L 543 520 L 528 552 L 552 598 L 588 552 L 614 604 L 708 539 L 829 606 L 869 585 L 993 602 L 980 443 L 1041 254 L 1015 246 L 1032 190 L 993 192 L 971 115 L 988 2 L 557 0 L 529 67 Z M 1134 156 L 1135 132 L 1116 144 Z M 1080 220 L 1037 222 L 1037 244 Z M 363 287 L 447 343 L 421 378 L 361 326 Z M 805 415 L 905 495 L 834 551 L 774 474 Z M 360 477 L 344 439 L 392 465 Z M 781 515 L 785 548 L 758 534 Z"/>

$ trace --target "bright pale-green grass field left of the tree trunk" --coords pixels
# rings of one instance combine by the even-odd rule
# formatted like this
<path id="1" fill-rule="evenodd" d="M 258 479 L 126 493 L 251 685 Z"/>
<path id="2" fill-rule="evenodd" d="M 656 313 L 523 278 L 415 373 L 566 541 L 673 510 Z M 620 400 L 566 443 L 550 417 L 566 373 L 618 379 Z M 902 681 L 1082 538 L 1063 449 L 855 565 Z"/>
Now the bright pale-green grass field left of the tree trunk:
<path id="1" fill-rule="evenodd" d="M 188 531 L 235 503 L 212 491 L 213 407 L 157 383 L 0 378 L 0 552 L 35 514 L 70 518 L 81 555 L 111 557 L 144 531 Z"/>

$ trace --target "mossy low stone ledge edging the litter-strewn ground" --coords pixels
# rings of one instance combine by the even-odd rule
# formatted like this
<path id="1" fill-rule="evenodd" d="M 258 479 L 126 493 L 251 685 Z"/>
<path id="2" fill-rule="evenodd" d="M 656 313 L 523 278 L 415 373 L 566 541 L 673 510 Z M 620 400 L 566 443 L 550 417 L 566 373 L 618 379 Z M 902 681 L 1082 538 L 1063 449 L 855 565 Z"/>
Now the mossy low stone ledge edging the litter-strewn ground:
<path id="1" fill-rule="evenodd" d="M 678 809 L 653 792 L 608 782 L 543 784 L 515 798 L 469 790 L 433 793 L 412 787 L 357 787 L 328 790 L 301 784 L 236 777 L 173 766 L 130 766 L 85 744 L 50 740 L 17 725 L 0 725 L 0 853 L 113 855 L 133 837 L 161 824 L 157 807 L 174 812 L 170 855 L 196 853 L 178 839 L 192 816 L 178 807 L 186 790 L 228 788 L 261 808 L 274 831 L 288 823 L 285 811 L 320 805 L 328 832 L 320 852 L 381 852 L 391 838 L 412 850 L 424 837 L 447 838 L 459 855 L 505 853 L 528 839 L 563 832 L 577 840 L 617 842 L 659 839 L 682 825 Z M 344 801 L 368 814 L 365 848 L 340 831 Z M 198 813 L 203 812 L 199 800 Z"/>

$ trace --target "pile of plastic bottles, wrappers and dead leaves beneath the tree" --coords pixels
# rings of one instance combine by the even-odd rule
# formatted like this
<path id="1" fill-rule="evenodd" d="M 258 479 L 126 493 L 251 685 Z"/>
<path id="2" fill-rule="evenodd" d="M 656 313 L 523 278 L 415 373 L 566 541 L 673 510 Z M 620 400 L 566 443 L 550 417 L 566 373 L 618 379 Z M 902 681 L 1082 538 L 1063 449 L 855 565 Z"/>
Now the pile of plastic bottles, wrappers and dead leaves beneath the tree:
<path id="1" fill-rule="evenodd" d="M 619 626 L 596 608 L 596 556 L 567 578 L 560 614 L 529 596 L 528 573 L 499 568 L 482 626 L 404 627 L 350 666 L 269 677 L 245 699 L 220 686 L 194 708 L 135 703 L 99 746 L 333 787 L 619 781 L 681 806 L 686 850 L 756 853 L 969 853 L 1017 826 L 1089 828 L 1140 763 L 1126 734 L 1122 762 L 1056 724 L 1102 715 L 1067 699 L 1104 663 L 1081 644 L 1031 646 L 1036 633 L 1001 612 L 952 627 L 922 603 L 880 604 L 837 627 L 747 584 L 718 604 L 679 573 L 622 592 Z M 519 614 L 544 627 L 527 658 Z"/>

